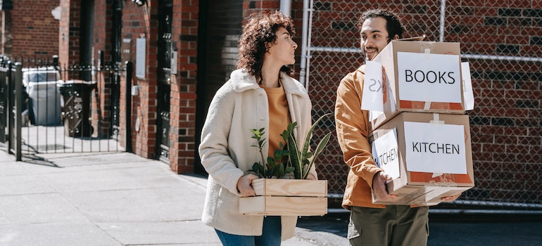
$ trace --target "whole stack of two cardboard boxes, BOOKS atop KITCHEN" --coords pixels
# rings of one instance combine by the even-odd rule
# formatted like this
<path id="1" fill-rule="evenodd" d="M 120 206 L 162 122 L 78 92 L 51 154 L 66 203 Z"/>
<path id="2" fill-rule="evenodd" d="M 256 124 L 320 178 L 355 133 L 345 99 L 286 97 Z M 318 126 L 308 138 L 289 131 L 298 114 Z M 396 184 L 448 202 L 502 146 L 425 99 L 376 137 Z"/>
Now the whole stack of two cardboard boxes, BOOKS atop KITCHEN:
<path id="1" fill-rule="evenodd" d="M 472 188 L 460 44 L 391 41 L 371 62 L 382 65 L 384 107 L 372 114 L 369 138 L 374 160 L 393 177 L 388 192 L 398 195 L 373 202 L 436 205 Z"/>

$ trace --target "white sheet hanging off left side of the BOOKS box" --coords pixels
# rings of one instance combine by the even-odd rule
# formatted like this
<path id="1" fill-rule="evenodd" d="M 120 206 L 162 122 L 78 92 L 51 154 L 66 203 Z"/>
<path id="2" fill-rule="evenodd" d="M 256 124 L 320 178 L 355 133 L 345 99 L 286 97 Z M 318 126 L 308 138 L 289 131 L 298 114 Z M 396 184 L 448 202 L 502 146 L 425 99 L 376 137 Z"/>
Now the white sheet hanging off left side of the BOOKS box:
<path id="1" fill-rule="evenodd" d="M 361 109 L 384 112 L 384 89 L 382 64 L 367 60 L 365 63 Z"/>

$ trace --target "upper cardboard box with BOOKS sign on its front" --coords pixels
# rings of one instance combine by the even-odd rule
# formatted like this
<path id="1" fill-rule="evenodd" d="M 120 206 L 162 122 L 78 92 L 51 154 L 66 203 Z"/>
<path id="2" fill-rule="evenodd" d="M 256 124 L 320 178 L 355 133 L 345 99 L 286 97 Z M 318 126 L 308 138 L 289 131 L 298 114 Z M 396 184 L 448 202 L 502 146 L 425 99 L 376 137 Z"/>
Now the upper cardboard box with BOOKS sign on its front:
<path id="1" fill-rule="evenodd" d="M 399 112 L 464 114 L 460 52 L 459 43 L 391 41 L 371 61 L 382 64 L 382 88 L 374 88 L 384 93 L 384 113 L 372 115 L 370 129 Z M 365 83 L 374 72 L 365 71 Z"/>

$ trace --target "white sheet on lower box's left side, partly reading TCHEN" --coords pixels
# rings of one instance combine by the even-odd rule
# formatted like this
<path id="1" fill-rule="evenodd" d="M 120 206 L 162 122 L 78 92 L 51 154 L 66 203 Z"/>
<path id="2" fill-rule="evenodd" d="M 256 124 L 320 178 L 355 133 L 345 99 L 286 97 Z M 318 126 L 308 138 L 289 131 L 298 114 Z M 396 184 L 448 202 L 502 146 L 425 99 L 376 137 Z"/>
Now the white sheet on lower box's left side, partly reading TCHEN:
<path id="1" fill-rule="evenodd" d="M 397 179 L 401 174 L 399 172 L 399 154 L 396 137 L 396 129 L 389 131 L 383 136 L 378 136 L 372 142 L 372 157 L 377 165 L 384 169 L 384 172 Z"/>

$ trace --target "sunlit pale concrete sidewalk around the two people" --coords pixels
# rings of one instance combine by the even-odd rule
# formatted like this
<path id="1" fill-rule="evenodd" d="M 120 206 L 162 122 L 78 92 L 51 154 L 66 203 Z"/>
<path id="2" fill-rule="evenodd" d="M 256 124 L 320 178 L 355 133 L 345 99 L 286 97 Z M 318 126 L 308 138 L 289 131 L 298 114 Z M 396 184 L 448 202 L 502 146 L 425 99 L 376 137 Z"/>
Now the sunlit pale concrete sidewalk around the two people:
<path id="1" fill-rule="evenodd" d="M 0 245 L 220 245 L 201 223 L 206 179 L 131 153 L 35 160 L 0 150 Z M 282 245 L 348 245 L 296 228 Z"/>

